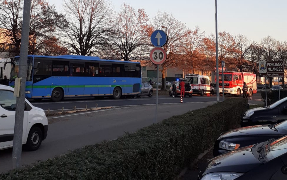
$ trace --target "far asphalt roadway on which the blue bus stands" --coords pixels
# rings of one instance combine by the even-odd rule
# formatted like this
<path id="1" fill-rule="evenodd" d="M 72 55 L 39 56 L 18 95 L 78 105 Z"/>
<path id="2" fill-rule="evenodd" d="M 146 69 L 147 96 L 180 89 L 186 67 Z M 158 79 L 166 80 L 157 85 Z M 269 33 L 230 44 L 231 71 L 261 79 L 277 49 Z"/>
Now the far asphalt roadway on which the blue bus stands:
<path id="1" fill-rule="evenodd" d="M 241 97 L 232 97 L 232 96 L 225 96 L 226 98 L 242 98 Z M 259 103 L 261 101 L 260 93 L 254 94 L 252 96 L 252 99 L 254 100 L 253 103 Z M 183 98 L 184 103 L 192 103 L 192 102 L 215 102 L 217 101 L 216 96 L 199 96 L 199 95 L 193 95 L 192 98 L 186 97 Z M 222 97 L 220 97 L 220 101 L 222 101 Z M 257 102 L 256 102 L 257 101 Z M 158 96 L 158 103 L 159 104 L 169 104 L 169 103 L 179 103 L 180 98 L 173 98 L 168 95 L 166 96 Z M 67 98 L 65 101 L 60 102 L 52 102 L 50 100 L 43 100 L 40 102 L 31 101 L 31 103 L 34 106 L 37 106 L 39 108 L 42 108 L 44 110 L 61 110 L 62 107 L 67 109 L 74 109 L 74 106 L 76 108 L 85 108 L 86 105 L 88 108 L 96 107 L 96 104 L 98 104 L 98 107 L 107 107 L 107 106 L 114 106 L 114 107 L 123 107 L 123 106 L 139 106 L 139 105 L 146 105 L 146 104 L 156 104 L 156 96 L 153 96 L 152 98 L 149 98 L 148 96 L 141 96 L 140 98 L 126 98 L 126 99 L 110 99 L 110 98 L 102 98 L 102 99 L 95 99 L 93 97 L 88 98 Z M 251 101 L 250 101 L 251 103 Z"/>

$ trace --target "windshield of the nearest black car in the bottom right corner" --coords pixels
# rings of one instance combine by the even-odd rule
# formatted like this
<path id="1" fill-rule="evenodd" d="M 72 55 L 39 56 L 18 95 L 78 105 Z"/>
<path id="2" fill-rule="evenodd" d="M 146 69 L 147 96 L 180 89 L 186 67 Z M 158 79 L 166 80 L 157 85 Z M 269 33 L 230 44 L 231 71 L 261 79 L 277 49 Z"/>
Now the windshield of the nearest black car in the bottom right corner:
<path id="1" fill-rule="evenodd" d="M 276 139 L 270 143 L 270 151 L 268 145 L 265 147 L 265 155 L 268 160 L 272 160 L 287 152 L 287 135 Z"/>

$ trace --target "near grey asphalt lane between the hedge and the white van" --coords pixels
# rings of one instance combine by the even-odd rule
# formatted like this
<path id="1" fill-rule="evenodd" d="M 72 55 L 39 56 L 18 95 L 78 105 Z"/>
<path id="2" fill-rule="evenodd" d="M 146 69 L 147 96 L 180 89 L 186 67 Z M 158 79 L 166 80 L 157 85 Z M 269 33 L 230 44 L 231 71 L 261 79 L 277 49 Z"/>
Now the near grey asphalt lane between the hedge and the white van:
<path id="1" fill-rule="evenodd" d="M 139 104 L 149 100 L 127 99 L 117 100 L 119 104 Z M 196 98 L 184 99 L 184 101 L 195 101 Z M 199 97 L 199 99 L 212 99 Z M 92 101 L 92 100 L 90 100 Z M 109 103 L 117 101 L 108 100 Z M 183 114 L 187 111 L 203 108 L 214 104 L 215 102 L 193 102 L 179 103 L 178 98 L 162 98 L 162 102 L 178 102 L 171 104 L 158 105 L 158 121 L 168 117 Z M 74 102 L 74 100 L 73 100 Z M 104 106 L 104 101 L 99 101 Z M 49 102 L 47 102 L 49 103 Z M 64 102 L 65 104 L 71 102 Z M 84 103 L 84 102 L 83 102 Z M 86 103 L 86 102 L 85 102 Z M 92 101 L 92 103 L 95 103 Z M 55 106 L 57 103 L 51 104 Z M 63 104 L 63 103 L 62 103 Z M 35 104 L 36 105 L 36 104 Z M 50 118 L 48 137 L 43 141 L 41 147 L 37 151 L 22 152 L 21 165 L 32 164 L 38 160 L 46 160 L 57 155 L 69 152 L 85 145 L 92 145 L 103 140 L 113 140 L 123 135 L 124 132 L 134 132 L 139 128 L 151 125 L 155 122 L 155 105 L 117 107 L 107 110 L 99 110 L 97 112 L 85 112 L 80 114 L 64 115 L 61 117 Z M 12 149 L 0 151 L 0 173 L 8 171 L 12 168 Z"/>

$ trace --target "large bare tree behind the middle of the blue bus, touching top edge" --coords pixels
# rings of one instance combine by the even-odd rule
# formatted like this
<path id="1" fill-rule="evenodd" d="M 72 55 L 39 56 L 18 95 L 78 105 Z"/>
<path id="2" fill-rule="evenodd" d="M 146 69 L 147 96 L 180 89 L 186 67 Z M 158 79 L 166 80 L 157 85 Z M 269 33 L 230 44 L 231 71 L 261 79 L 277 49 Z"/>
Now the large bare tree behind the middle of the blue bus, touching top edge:
<path id="1" fill-rule="evenodd" d="M 61 29 L 61 40 L 77 55 L 97 54 L 107 43 L 114 11 L 107 0 L 65 0 L 67 26 Z"/>

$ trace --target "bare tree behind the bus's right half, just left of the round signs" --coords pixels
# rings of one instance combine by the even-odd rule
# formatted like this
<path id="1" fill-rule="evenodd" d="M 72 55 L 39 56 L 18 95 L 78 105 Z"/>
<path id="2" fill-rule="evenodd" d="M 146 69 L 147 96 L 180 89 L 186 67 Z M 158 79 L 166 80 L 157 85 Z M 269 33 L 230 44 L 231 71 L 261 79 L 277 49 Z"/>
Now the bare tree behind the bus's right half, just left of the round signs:
<path id="1" fill-rule="evenodd" d="M 112 45 L 120 51 L 120 58 L 129 61 L 143 58 L 147 55 L 148 34 L 146 27 L 149 18 L 144 9 L 135 10 L 126 3 L 114 21 L 111 39 Z"/>

